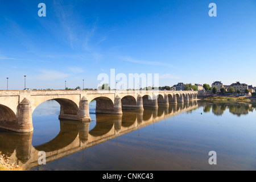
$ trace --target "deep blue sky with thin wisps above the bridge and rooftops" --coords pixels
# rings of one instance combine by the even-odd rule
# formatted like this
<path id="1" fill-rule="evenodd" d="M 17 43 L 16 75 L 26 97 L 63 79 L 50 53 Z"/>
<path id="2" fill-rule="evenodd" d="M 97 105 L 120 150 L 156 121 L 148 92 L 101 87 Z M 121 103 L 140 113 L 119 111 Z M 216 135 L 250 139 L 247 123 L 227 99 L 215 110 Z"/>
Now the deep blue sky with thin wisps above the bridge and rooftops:
<path id="1" fill-rule="evenodd" d="M 209 3 L 217 16 L 210 17 Z M 46 4 L 46 17 L 38 4 Z M 256 86 L 256 2 L 0 1 L 0 89 L 96 88 L 100 73 Z"/>

